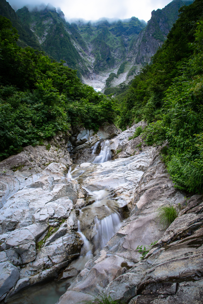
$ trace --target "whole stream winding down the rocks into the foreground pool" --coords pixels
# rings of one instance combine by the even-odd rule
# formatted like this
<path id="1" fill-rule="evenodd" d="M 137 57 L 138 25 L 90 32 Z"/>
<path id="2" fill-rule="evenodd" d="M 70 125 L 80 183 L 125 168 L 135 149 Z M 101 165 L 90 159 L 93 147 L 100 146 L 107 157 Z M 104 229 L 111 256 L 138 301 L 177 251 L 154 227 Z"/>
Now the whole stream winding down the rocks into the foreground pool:
<path id="1" fill-rule="evenodd" d="M 99 145 L 95 143 L 92 154 Z M 77 270 L 72 278 L 65 280 L 54 280 L 46 284 L 37 284 L 24 289 L 9 299 L 12 304 L 55 304 L 61 295 L 66 292 L 77 274 L 84 269 L 87 261 L 92 259 L 105 246 L 111 237 L 119 230 L 123 218 L 119 212 L 116 201 L 112 199 L 111 193 L 105 188 L 85 187 L 83 178 L 91 167 L 111 160 L 110 140 L 101 142 L 101 151 L 95 155 L 92 163 L 73 164 L 67 174 L 67 178 L 76 180 L 87 192 L 87 202 L 79 210 L 78 232 L 84 242 L 80 257 L 73 260 L 68 267 Z"/>

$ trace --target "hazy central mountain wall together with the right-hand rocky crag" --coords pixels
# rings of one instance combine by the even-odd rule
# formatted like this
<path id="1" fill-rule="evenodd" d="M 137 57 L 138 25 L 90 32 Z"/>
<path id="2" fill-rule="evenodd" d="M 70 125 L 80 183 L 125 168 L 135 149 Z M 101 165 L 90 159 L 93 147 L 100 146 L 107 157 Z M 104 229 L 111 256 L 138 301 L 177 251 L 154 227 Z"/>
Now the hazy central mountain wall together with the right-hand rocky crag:
<path id="1" fill-rule="evenodd" d="M 90 76 L 84 82 L 102 88 L 128 83 L 166 40 L 178 18 L 178 10 L 193 2 L 174 0 L 163 9 L 152 12 L 146 24 L 136 17 L 112 22 L 76 20 L 70 31 L 78 49 L 84 50 L 89 61 Z"/>

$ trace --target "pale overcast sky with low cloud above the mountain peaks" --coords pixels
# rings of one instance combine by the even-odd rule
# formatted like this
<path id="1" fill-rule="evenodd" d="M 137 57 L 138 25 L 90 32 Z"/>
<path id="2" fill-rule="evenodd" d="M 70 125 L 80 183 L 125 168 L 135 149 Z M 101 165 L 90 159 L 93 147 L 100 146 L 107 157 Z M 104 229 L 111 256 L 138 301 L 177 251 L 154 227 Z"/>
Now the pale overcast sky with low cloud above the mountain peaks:
<path id="1" fill-rule="evenodd" d="M 65 18 L 83 18 L 97 20 L 102 17 L 108 18 L 131 18 L 135 16 L 148 21 L 151 11 L 162 9 L 170 3 L 170 0 L 7 0 L 15 11 L 24 5 L 32 7 L 49 2 L 54 7 L 60 7 Z"/>

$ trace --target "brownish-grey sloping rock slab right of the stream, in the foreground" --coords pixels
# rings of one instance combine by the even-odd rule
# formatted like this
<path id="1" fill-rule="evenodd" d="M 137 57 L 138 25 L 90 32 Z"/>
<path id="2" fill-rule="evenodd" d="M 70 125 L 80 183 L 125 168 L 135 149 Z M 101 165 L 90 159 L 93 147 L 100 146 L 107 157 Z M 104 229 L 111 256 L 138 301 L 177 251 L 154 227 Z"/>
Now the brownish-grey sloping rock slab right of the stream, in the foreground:
<path id="1" fill-rule="evenodd" d="M 128 158 L 129 159 L 129 158 Z M 128 160 L 127 159 L 127 160 Z M 157 209 L 172 204 L 179 216 L 165 231 L 159 224 Z M 61 296 L 59 303 L 69 303 L 74 290 L 93 295 L 92 290 L 110 293 L 121 302 L 130 303 L 201 303 L 202 219 L 201 195 L 194 195 L 186 205 L 185 193 L 174 188 L 159 149 L 153 149 L 152 161 L 135 188 L 129 219 L 97 256 L 89 261 L 75 282 Z M 192 206 L 192 207 L 191 207 Z M 143 261 L 136 250 L 157 241 Z M 148 247 L 149 248 L 149 247 Z M 122 257 L 122 273 L 108 277 L 109 283 L 92 287 L 92 273 L 97 265 L 108 267 L 109 257 Z M 98 267 L 98 266 L 97 266 Z M 80 289 L 81 286 L 81 289 Z M 98 289 L 99 286 L 99 289 Z M 94 289 L 94 290 L 95 290 Z M 71 301 L 73 303 L 73 301 Z M 76 303 L 76 300 L 75 300 Z"/>

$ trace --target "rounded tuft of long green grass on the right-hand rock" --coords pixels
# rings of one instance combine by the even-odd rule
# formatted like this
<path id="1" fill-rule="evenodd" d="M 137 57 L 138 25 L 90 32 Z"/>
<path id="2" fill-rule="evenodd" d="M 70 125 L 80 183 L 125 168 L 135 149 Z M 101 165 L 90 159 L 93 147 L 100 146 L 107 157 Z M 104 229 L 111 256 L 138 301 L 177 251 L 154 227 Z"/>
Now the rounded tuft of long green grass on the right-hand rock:
<path id="1" fill-rule="evenodd" d="M 162 224 L 165 229 L 178 216 L 177 210 L 172 205 L 171 206 L 161 206 L 157 209 L 157 211 L 159 211 L 158 215 L 160 216 L 160 224 Z"/>

